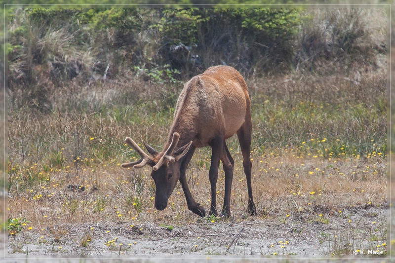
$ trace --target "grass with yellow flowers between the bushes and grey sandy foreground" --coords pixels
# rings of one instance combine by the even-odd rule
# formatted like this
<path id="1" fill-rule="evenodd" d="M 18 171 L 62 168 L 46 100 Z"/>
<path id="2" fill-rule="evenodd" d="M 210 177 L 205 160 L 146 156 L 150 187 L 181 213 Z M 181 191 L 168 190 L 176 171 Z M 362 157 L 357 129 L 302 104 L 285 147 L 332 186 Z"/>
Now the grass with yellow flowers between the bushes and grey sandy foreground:
<path id="1" fill-rule="evenodd" d="M 311 226 L 340 221 L 348 224 L 349 230 L 317 234 L 322 247 L 327 247 L 325 253 L 331 251 L 334 255 L 384 243 L 385 219 L 374 219 L 380 224 L 377 227 L 365 225 L 370 233 L 362 236 L 362 230 L 358 230 L 362 227 L 354 219 L 357 213 L 352 209 L 380 208 L 387 203 L 387 111 L 381 104 L 386 96 L 385 87 L 381 87 L 386 83 L 385 76 L 373 76 L 359 86 L 339 80 L 341 77 L 311 77 L 295 83 L 284 82 L 284 78 L 296 76 L 248 80 L 254 125 L 252 181 L 258 215 L 247 216 L 242 156 L 237 139 L 232 137 L 227 142 L 235 159 L 230 220 L 278 220 L 287 227 L 295 220 Z M 317 88 L 311 87 L 313 82 Z M 372 84 L 380 87 L 375 98 L 369 92 Z M 341 98 L 340 93 L 319 92 L 335 85 L 341 90 Z M 363 92 L 356 96 L 356 89 Z M 304 92 L 310 97 L 306 98 Z M 180 185 L 170 196 L 168 207 L 157 211 L 150 170 L 120 167 L 122 162 L 139 158 L 124 145 L 126 136 L 132 136 L 139 144 L 145 140 L 161 150 L 172 122 L 171 110 L 155 111 L 155 101 L 140 101 L 133 107 L 128 103 L 96 103 L 101 104 L 92 108 L 98 111 L 77 107 L 50 114 L 30 109 L 9 112 L 9 219 L 30 221 L 22 232 L 51 225 L 99 222 L 127 224 L 131 233 L 141 234 L 148 222 L 171 232 L 174 230 L 170 226 L 201 224 L 201 219 L 188 210 Z M 206 209 L 210 206 L 210 153 L 209 149 L 198 149 L 187 172 L 191 192 Z M 83 186 L 84 191 L 68 189 L 71 184 Z M 223 194 L 221 167 L 217 184 L 219 208 Z M 350 210 L 347 215 L 346 210 Z M 215 225 L 223 220 L 207 218 L 204 222 Z M 303 230 L 297 233 L 302 234 Z M 76 242 L 88 247 L 88 239 L 93 238 L 97 239 L 93 233 L 85 233 Z M 364 240 L 362 246 L 353 241 L 355 238 Z M 111 246 L 121 252 L 119 246 Z M 272 253 L 294 253 L 284 250 L 286 245 L 281 246 L 276 245 Z M 56 251 L 63 251 L 57 247 Z M 192 247 L 191 251 L 201 249 Z"/>

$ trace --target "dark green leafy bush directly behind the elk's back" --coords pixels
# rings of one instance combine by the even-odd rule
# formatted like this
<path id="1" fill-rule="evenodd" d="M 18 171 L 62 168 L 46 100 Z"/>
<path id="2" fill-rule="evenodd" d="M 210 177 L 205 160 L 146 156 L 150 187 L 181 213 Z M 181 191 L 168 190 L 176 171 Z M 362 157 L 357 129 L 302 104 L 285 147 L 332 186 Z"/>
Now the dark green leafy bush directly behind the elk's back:
<path id="1" fill-rule="evenodd" d="M 162 36 L 161 56 L 183 73 L 195 66 L 189 59 L 194 53 L 200 57 L 201 70 L 223 64 L 249 74 L 256 67 L 289 69 L 299 23 L 299 9 L 175 8 L 163 9 L 152 27 Z M 171 48 L 179 44 L 191 51 L 182 65 Z"/>

